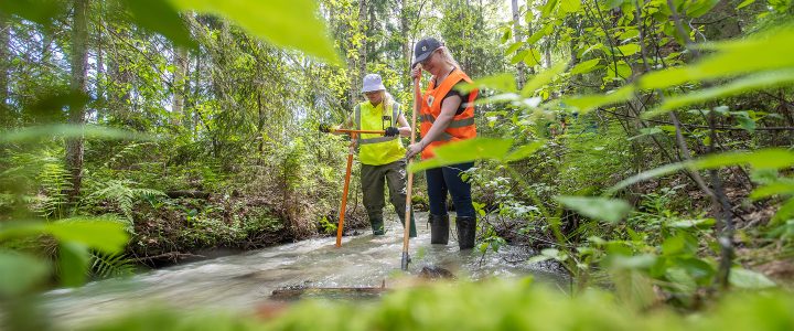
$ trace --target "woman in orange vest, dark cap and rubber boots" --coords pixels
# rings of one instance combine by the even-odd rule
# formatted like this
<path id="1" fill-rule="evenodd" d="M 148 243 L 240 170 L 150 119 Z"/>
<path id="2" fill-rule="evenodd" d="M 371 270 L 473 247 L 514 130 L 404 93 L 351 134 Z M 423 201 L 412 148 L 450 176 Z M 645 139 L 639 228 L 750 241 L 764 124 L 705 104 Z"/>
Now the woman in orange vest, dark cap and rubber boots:
<path id="1" fill-rule="evenodd" d="M 430 83 L 421 97 L 416 98 L 421 125 L 421 140 L 408 146 L 406 158 L 421 153 L 422 160 L 433 158 L 433 149 L 444 143 L 476 137 L 474 99 L 478 89 L 461 93 L 460 84 L 472 83 L 454 61 L 450 51 L 437 39 L 426 38 L 414 50 L 411 78 L 421 77 L 422 70 L 430 73 Z M 417 67 L 421 64 L 421 68 Z M 447 245 L 450 220 L 447 213 L 447 193 L 452 195 L 457 213 L 458 246 L 474 247 L 476 217 L 471 199 L 471 184 L 461 179 L 461 172 L 474 162 L 452 164 L 426 171 L 430 200 L 430 243 Z"/>

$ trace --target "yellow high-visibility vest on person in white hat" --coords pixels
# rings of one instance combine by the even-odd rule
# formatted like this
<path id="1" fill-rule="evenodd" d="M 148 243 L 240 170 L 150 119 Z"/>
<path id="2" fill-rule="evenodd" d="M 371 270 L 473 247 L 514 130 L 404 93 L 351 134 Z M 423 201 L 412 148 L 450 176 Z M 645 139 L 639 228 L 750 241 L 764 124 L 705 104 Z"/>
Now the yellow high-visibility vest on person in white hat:
<path id="1" fill-rule="evenodd" d="M 354 109 L 356 129 L 383 130 L 399 127 L 399 104 L 394 103 L 391 110 L 384 110 L 384 103 L 373 106 L 369 102 L 356 105 Z M 406 149 L 399 135 L 385 137 L 375 134 L 362 134 L 358 137 L 358 160 L 362 164 L 380 166 L 391 163 L 405 157 Z"/>

